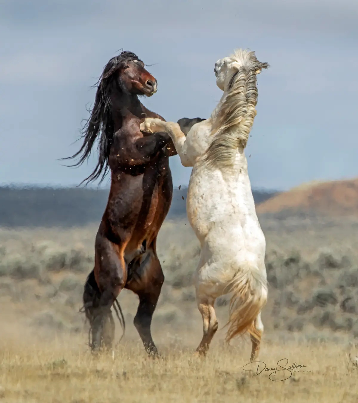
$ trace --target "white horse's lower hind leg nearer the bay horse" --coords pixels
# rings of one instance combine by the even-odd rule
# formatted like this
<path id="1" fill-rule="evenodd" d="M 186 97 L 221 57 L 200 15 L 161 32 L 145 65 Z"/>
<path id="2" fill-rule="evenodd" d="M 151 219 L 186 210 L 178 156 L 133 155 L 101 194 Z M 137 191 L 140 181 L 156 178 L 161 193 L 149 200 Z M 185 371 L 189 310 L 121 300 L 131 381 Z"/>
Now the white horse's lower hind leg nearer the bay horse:
<path id="1" fill-rule="evenodd" d="M 210 342 L 218 330 L 218 321 L 214 310 L 215 299 L 201 297 L 198 298 L 198 308 L 203 318 L 203 337 L 196 351 L 200 355 L 206 355 Z"/>

